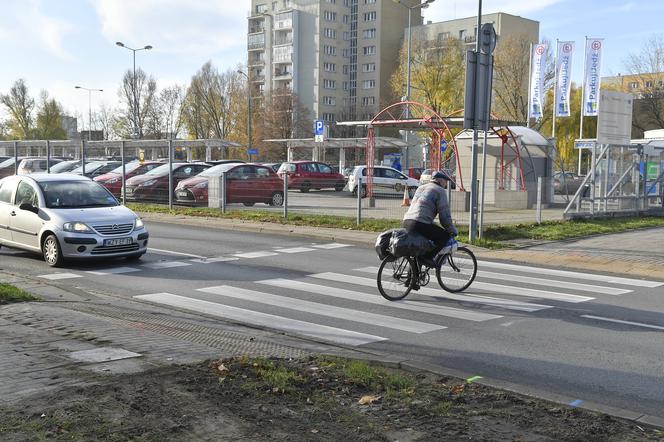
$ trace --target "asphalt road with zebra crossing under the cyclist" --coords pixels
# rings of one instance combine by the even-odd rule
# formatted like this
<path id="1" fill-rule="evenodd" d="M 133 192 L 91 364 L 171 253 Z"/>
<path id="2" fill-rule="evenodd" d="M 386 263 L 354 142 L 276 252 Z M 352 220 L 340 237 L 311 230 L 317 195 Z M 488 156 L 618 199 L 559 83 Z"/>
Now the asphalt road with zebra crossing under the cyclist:
<path id="1" fill-rule="evenodd" d="M 446 294 L 434 277 L 390 303 L 376 289 L 370 248 L 148 227 L 139 262 L 51 269 L 2 248 L 0 267 L 664 418 L 661 282 L 480 262 L 466 293 Z"/>

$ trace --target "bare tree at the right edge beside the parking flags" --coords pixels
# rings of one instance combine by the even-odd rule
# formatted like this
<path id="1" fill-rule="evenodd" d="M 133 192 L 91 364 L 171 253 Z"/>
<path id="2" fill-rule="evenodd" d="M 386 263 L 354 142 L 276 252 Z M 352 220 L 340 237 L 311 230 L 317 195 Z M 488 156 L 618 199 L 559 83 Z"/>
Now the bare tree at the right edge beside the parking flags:
<path id="1" fill-rule="evenodd" d="M 641 132 L 664 127 L 664 36 L 651 36 L 625 67 L 638 82 L 632 126 Z"/>

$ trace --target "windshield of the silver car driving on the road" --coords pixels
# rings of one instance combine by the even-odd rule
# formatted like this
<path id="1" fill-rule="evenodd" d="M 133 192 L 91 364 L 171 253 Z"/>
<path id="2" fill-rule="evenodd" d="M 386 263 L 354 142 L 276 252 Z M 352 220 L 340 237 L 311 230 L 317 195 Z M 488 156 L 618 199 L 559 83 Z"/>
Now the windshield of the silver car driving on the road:
<path id="1" fill-rule="evenodd" d="M 51 209 L 81 209 L 119 205 L 115 197 L 94 181 L 43 181 L 39 183 L 46 207 Z"/>

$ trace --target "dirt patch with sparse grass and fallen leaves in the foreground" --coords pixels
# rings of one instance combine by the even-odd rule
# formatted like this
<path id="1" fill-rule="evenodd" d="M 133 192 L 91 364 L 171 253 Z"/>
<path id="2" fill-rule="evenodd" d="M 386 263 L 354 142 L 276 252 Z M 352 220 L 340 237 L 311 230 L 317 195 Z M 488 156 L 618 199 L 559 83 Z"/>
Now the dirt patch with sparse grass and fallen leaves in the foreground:
<path id="1" fill-rule="evenodd" d="M 457 378 L 332 357 L 103 376 L 0 407 L 15 440 L 664 440 L 664 432 Z"/>

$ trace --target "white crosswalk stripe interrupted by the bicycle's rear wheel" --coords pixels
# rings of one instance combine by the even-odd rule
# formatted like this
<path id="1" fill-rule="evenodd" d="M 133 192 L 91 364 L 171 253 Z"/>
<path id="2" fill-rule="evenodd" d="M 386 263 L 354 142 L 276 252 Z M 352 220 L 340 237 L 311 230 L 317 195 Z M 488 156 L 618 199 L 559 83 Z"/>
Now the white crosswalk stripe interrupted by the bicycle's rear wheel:
<path id="1" fill-rule="evenodd" d="M 360 271 L 366 271 L 366 267 L 362 269 L 356 269 Z M 361 285 L 365 287 L 376 287 L 376 281 L 369 278 L 362 278 L 359 276 L 344 275 L 341 273 L 316 273 L 314 275 L 309 275 L 312 278 L 325 279 L 328 281 L 336 282 L 348 282 L 351 284 Z M 422 287 L 416 292 L 419 295 L 425 296 L 434 296 L 441 299 L 451 299 L 454 301 L 461 302 L 472 302 L 474 304 L 490 305 L 493 307 L 500 307 L 508 310 L 524 311 L 524 312 L 536 312 L 539 310 L 544 310 L 547 308 L 552 308 L 550 305 L 543 304 L 533 304 L 529 302 L 520 302 L 513 301 L 510 299 L 501 299 L 501 298 L 492 298 L 488 296 L 474 295 L 472 293 L 458 294 L 458 293 L 448 293 L 444 292 L 442 289 L 437 290 L 433 288 Z"/>

